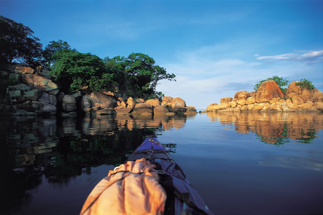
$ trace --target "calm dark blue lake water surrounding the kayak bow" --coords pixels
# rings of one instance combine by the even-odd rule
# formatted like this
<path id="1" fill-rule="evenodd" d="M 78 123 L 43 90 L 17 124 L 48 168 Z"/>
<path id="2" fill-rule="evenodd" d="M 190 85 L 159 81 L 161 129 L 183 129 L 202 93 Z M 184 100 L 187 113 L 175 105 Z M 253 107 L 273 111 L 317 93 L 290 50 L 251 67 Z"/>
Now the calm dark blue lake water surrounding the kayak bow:
<path id="1" fill-rule="evenodd" d="M 5 214 L 78 214 L 156 134 L 214 213 L 323 213 L 323 114 L 0 117 Z"/>

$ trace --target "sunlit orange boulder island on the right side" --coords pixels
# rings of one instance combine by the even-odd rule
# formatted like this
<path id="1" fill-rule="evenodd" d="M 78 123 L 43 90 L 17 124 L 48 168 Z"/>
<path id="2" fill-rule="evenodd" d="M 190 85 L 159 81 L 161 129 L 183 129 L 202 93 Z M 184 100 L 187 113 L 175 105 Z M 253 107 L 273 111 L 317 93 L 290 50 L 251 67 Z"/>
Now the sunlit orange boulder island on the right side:
<path id="1" fill-rule="evenodd" d="M 275 81 L 263 82 L 257 91 L 239 91 L 232 97 L 224 97 L 220 104 L 212 103 L 205 112 L 288 112 L 288 111 L 321 111 L 323 112 L 323 93 L 317 89 L 304 89 L 296 85 L 298 81 L 289 84 L 283 94 Z"/>

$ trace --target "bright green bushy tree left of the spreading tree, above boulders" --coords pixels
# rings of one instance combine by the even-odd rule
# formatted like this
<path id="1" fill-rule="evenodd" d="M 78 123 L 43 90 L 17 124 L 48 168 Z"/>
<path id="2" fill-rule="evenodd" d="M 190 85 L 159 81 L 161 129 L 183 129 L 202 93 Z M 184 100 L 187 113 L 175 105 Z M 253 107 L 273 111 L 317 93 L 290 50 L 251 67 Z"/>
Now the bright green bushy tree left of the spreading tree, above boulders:
<path id="1" fill-rule="evenodd" d="M 52 56 L 52 60 L 51 75 L 65 92 L 82 88 L 106 90 L 113 83 L 114 74 L 109 73 L 102 59 L 91 53 L 62 49 Z"/>

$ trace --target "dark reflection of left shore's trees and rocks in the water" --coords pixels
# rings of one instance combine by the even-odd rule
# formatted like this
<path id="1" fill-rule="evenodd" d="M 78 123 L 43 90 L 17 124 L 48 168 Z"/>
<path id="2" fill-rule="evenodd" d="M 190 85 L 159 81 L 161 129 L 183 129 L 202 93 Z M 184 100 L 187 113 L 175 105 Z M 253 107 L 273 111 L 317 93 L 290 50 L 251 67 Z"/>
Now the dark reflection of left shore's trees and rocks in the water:
<path id="1" fill-rule="evenodd" d="M 66 184 L 91 168 L 120 165 L 146 135 L 185 126 L 185 116 L 4 117 L 0 121 L 2 185 L 5 211 L 29 204 L 28 190 L 44 176 L 49 183 Z M 175 143 L 165 144 L 170 152 Z"/>

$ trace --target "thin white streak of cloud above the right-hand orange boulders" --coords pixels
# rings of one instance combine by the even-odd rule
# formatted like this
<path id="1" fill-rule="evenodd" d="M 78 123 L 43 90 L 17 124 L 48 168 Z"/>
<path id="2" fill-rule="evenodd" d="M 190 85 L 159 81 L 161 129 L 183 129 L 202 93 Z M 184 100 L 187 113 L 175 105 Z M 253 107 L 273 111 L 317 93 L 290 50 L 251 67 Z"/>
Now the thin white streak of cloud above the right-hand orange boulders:
<path id="1" fill-rule="evenodd" d="M 300 52 L 300 51 L 299 51 Z M 316 64 L 323 62 L 323 50 L 318 51 L 308 51 L 303 55 L 299 53 L 285 53 L 283 55 L 276 55 L 276 56 L 261 56 L 254 55 L 257 57 L 257 60 L 289 60 L 289 61 L 298 61 L 304 62 L 306 64 Z"/>

